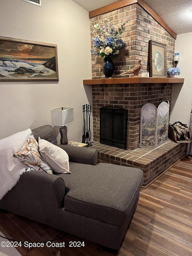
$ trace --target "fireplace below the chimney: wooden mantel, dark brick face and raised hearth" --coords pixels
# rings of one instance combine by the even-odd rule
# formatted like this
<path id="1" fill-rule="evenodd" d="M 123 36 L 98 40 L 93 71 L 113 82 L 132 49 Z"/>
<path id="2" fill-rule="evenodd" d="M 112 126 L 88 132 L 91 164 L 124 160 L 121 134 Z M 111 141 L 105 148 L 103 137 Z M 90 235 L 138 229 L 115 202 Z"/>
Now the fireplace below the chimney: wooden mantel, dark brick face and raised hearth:
<path id="1" fill-rule="evenodd" d="M 182 158 L 186 143 L 175 143 L 170 139 L 158 147 L 139 148 L 140 110 L 146 103 L 157 107 L 169 100 L 174 84 L 183 83 L 183 78 L 131 77 L 83 80 L 92 86 L 93 139 L 92 148 L 98 149 L 98 161 L 137 167 L 144 172 L 147 186 L 167 168 Z M 122 107 L 128 110 L 127 148 L 120 149 L 100 143 L 100 108 Z"/>

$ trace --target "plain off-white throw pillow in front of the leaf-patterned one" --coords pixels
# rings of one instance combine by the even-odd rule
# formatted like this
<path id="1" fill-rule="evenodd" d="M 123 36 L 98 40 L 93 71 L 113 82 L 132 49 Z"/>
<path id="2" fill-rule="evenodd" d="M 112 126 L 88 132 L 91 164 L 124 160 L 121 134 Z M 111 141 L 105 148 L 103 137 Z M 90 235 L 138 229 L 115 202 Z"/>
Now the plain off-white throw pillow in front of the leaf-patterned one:
<path id="1" fill-rule="evenodd" d="M 43 159 L 56 173 L 71 173 L 69 171 L 69 156 L 60 147 L 39 137 L 39 151 Z"/>

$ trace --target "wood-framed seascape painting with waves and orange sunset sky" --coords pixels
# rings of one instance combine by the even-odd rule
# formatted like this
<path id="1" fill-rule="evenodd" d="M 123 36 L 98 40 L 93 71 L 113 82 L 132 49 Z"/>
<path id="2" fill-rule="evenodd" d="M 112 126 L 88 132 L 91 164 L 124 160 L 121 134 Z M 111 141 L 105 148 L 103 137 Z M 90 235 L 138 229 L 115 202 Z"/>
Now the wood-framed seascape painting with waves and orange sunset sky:
<path id="1" fill-rule="evenodd" d="M 58 80 L 56 44 L 0 37 L 0 82 Z"/>

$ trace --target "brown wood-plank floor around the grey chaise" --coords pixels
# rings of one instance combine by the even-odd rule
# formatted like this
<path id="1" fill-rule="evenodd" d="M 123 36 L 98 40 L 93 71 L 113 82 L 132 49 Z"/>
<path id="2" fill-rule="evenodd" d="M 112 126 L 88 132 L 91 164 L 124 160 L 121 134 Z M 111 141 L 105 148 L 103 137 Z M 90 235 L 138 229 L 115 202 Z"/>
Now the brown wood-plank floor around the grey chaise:
<path id="1" fill-rule="evenodd" d="M 12 213 L 0 213 L 0 230 L 5 236 L 28 242 L 65 242 L 65 248 L 17 247 L 25 256 L 190 256 L 192 255 L 192 158 L 185 158 L 146 189 L 140 200 L 121 248 L 116 253 L 85 240 L 85 247 L 68 247 L 78 237 L 31 222 Z M 0 247 L 1 255 L 1 247 Z M 14 256 L 14 255 L 11 255 Z"/>

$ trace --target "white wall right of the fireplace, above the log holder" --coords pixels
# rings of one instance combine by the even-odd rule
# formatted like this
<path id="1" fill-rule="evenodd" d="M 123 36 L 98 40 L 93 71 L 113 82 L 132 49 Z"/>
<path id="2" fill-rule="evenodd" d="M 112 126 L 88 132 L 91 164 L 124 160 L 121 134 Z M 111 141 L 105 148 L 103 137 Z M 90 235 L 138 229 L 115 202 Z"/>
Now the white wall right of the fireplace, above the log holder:
<path id="1" fill-rule="evenodd" d="M 192 32 L 177 35 L 175 41 L 175 53 L 180 53 L 178 68 L 181 74 L 178 77 L 184 78 L 183 86 L 173 84 L 170 122 L 180 121 L 189 126 L 190 112 L 192 108 Z"/>

